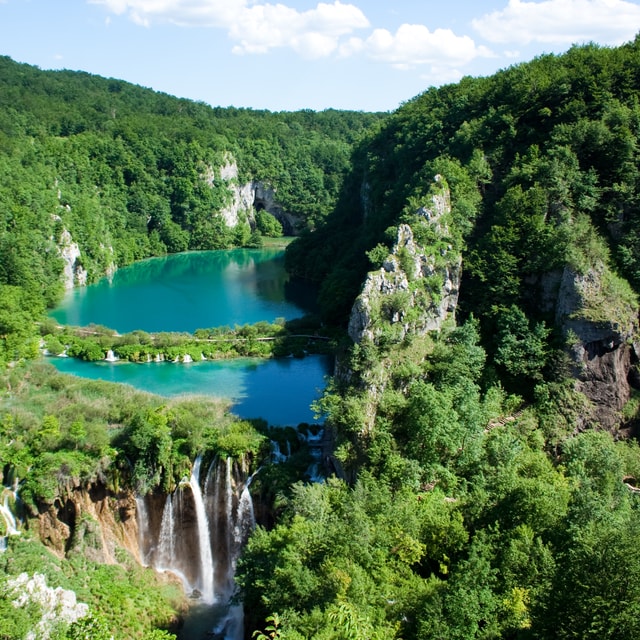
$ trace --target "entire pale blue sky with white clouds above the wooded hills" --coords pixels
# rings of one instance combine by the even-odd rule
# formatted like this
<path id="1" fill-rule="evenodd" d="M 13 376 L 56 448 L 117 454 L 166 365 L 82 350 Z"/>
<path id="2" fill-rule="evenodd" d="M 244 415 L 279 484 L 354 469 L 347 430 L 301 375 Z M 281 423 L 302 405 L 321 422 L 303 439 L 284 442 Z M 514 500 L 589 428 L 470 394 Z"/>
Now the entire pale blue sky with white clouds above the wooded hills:
<path id="1" fill-rule="evenodd" d="M 0 54 L 214 106 L 390 111 L 640 32 L 640 0 L 0 0 Z"/>

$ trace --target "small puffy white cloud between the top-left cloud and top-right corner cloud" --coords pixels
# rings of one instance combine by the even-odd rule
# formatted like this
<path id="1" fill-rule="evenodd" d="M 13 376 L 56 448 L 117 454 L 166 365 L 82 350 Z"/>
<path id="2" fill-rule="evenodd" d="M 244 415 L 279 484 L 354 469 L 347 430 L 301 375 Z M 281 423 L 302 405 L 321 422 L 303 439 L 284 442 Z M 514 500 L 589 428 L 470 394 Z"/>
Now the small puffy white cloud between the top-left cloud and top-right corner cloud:
<path id="1" fill-rule="evenodd" d="M 375 29 L 362 48 L 374 60 L 401 68 L 431 65 L 439 75 L 444 69 L 493 55 L 486 47 L 476 46 L 469 36 L 457 36 L 449 29 L 430 31 L 420 24 L 403 24 L 395 34 Z"/>

